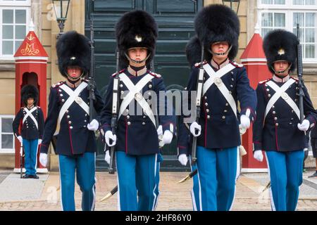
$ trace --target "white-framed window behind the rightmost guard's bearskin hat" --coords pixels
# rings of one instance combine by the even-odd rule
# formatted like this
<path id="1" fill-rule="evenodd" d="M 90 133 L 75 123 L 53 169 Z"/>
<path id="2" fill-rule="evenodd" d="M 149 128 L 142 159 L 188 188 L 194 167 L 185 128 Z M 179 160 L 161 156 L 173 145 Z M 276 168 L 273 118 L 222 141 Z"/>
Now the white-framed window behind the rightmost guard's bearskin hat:
<path id="1" fill-rule="evenodd" d="M 304 63 L 317 63 L 317 0 L 258 0 L 261 36 L 273 29 L 297 34 L 303 49 Z"/>

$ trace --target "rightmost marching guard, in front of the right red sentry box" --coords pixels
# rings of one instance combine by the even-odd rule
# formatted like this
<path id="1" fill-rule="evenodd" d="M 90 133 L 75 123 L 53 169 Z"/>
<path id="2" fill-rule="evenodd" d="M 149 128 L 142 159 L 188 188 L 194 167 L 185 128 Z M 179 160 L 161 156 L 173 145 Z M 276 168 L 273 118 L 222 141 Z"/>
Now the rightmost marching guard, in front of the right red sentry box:
<path id="1" fill-rule="evenodd" d="M 263 160 L 266 152 L 271 178 L 272 210 L 296 209 L 302 184 L 305 131 L 316 124 L 308 91 L 304 91 L 304 120 L 300 122 L 298 79 L 290 73 L 296 68 L 297 37 L 286 30 L 273 30 L 263 39 L 271 79 L 256 88 L 258 105 L 253 127 L 254 158 Z"/>

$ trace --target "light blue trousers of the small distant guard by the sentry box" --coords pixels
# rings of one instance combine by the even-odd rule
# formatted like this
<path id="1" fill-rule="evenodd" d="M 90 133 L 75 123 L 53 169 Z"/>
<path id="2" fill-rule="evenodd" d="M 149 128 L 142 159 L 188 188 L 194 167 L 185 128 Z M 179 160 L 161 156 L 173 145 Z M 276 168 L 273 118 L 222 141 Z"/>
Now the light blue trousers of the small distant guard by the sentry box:
<path id="1" fill-rule="evenodd" d="M 25 174 L 35 175 L 37 173 L 37 143 L 39 139 L 23 139 L 25 154 Z"/>

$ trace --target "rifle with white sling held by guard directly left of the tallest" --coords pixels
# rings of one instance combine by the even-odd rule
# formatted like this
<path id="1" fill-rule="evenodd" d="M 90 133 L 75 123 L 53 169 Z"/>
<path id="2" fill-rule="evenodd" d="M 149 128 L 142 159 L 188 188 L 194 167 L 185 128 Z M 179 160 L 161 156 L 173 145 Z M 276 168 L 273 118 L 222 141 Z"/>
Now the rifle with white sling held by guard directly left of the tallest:
<path id="1" fill-rule="evenodd" d="M 111 130 L 112 134 L 116 134 L 117 126 L 118 126 L 118 108 L 120 105 L 120 86 L 119 86 L 119 51 L 116 51 L 116 77 L 113 79 L 113 95 L 112 95 L 112 117 L 111 117 Z M 107 144 L 105 144 L 105 149 L 108 150 Z M 116 151 L 116 146 L 111 146 L 110 148 L 110 165 L 108 172 L 109 174 L 114 174 L 114 158 Z"/>

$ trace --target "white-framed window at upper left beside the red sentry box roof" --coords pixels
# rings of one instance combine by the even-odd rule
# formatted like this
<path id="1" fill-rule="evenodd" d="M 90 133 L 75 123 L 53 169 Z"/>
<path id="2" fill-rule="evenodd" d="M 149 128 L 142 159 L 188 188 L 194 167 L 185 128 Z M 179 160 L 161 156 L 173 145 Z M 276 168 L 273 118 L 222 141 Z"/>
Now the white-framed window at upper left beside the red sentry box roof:
<path id="1" fill-rule="evenodd" d="M 0 58 L 12 59 L 27 34 L 30 0 L 0 0 Z"/>

